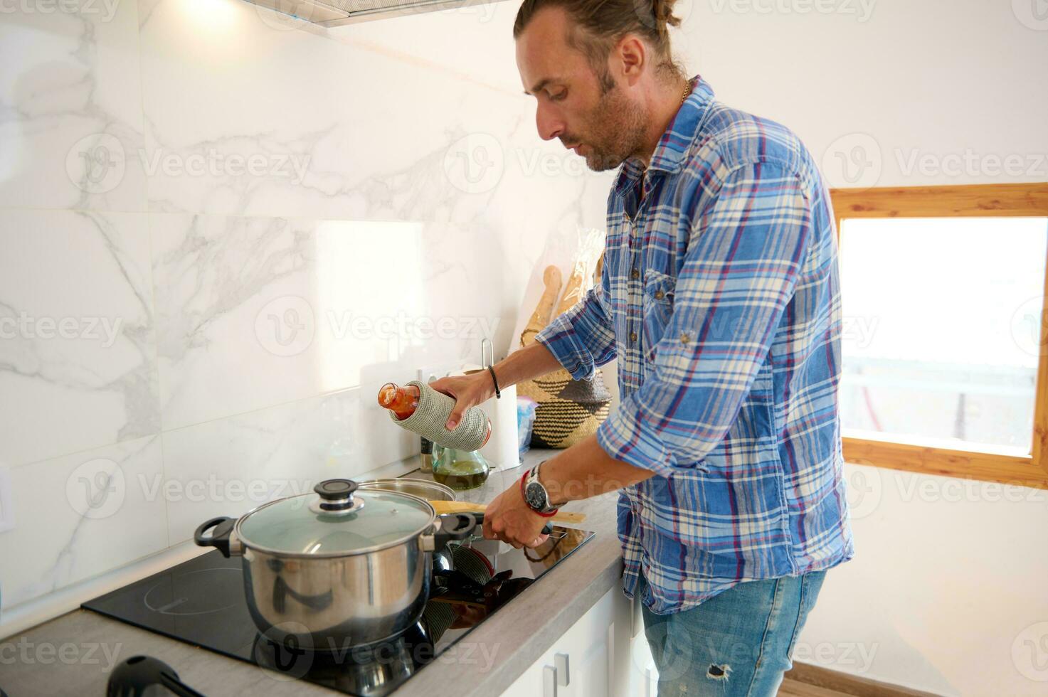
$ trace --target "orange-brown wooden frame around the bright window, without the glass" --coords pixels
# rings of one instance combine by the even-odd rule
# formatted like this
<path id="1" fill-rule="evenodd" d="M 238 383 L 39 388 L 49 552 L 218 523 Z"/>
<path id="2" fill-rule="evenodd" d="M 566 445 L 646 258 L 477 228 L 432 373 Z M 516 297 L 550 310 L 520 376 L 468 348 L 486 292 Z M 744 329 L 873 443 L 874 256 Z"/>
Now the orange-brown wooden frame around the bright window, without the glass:
<path id="1" fill-rule="evenodd" d="M 831 189 L 840 225 L 850 218 L 1048 218 L 1048 183 L 964 184 Z M 1048 260 L 1044 296 L 1048 299 Z M 1046 301 L 1048 302 L 1048 301 Z M 1044 317 L 1044 314 L 1042 315 Z M 1048 326 L 1042 323 L 1033 402 L 1033 437 L 1026 455 L 991 448 L 979 451 L 939 448 L 899 436 L 844 438 L 845 461 L 892 470 L 962 477 L 1048 488 Z"/>

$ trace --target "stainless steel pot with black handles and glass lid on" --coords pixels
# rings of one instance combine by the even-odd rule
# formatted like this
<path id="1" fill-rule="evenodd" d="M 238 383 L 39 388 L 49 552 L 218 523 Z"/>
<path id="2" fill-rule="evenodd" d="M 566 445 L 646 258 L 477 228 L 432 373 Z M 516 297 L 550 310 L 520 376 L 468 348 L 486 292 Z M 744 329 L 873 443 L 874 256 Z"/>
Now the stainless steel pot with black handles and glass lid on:
<path id="1" fill-rule="evenodd" d="M 213 518 L 194 540 L 243 558 L 247 608 L 270 640 L 337 651 L 399 635 L 424 609 L 432 553 L 468 538 L 477 517 L 438 517 L 423 499 L 348 479 L 313 491 Z"/>

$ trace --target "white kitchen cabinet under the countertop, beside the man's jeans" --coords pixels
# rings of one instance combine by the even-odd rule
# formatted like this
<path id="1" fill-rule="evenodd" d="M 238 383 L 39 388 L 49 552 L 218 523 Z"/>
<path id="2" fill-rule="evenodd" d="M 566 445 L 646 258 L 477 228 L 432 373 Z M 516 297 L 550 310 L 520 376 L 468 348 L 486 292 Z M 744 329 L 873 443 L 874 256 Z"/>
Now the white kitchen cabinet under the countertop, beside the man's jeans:
<path id="1" fill-rule="evenodd" d="M 630 615 L 630 602 L 616 584 L 503 697 L 626 697 Z"/>

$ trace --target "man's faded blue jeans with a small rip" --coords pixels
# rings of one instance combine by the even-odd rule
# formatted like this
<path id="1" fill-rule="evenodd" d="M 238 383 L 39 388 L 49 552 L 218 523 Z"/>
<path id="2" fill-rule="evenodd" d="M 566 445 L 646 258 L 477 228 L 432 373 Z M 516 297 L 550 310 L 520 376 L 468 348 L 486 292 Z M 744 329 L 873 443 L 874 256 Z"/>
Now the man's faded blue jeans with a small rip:
<path id="1" fill-rule="evenodd" d="M 642 607 L 659 697 L 773 696 L 825 576 L 748 581 L 674 614 Z M 645 586 L 641 576 L 635 597 Z"/>

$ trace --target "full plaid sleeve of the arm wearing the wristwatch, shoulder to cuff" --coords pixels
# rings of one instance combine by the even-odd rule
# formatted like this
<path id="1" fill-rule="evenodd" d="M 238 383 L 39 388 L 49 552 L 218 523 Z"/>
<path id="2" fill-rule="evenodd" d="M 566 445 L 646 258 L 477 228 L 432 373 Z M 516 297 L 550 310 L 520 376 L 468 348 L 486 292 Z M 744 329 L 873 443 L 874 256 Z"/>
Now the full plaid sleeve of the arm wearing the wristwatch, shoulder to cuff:
<path id="1" fill-rule="evenodd" d="M 670 477 L 724 439 L 793 298 L 812 226 L 810 202 L 785 168 L 725 175 L 692 223 L 653 370 L 597 429 L 609 456 Z"/>

